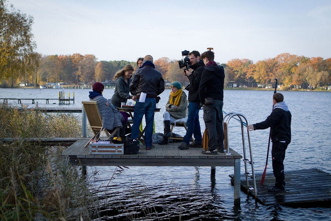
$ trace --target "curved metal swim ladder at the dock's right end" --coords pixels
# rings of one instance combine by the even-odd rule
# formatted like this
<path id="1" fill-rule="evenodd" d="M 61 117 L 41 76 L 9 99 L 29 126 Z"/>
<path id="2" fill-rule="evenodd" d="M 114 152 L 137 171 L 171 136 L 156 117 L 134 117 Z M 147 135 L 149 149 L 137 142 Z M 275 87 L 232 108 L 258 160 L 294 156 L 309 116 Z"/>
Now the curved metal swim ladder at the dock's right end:
<path id="1" fill-rule="evenodd" d="M 239 117 L 240 120 L 238 120 L 237 118 L 234 118 L 235 116 Z M 247 129 L 246 125 L 248 124 L 248 120 L 246 118 L 245 115 L 241 114 L 241 113 L 235 113 L 235 112 L 229 112 L 227 114 L 224 115 L 223 117 L 223 125 L 224 125 L 224 121 L 226 119 L 226 139 L 227 139 L 227 146 L 226 146 L 226 153 L 225 155 L 230 155 L 231 153 L 229 152 L 229 121 L 231 118 L 236 119 L 237 121 L 240 122 L 241 124 L 241 135 L 242 135 L 242 142 L 243 142 L 243 151 L 244 151 L 244 164 L 245 164 L 245 177 L 246 177 L 246 187 L 249 188 L 249 181 L 248 181 L 248 168 L 247 168 L 247 157 L 246 157 L 246 146 L 245 146 L 245 131 L 244 131 L 244 126 Z M 246 125 L 243 122 L 243 119 L 245 119 L 246 121 Z M 250 131 L 249 129 L 247 129 L 247 136 L 248 136 L 248 145 L 249 145 L 249 150 L 250 150 L 250 158 L 251 158 L 251 167 L 252 167 L 252 178 L 253 178 L 253 185 L 254 185 L 254 195 L 255 198 L 257 198 L 257 188 L 256 188 L 256 179 L 255 179 L 255 172 L 254 172 L 254 161 L 253 161 L 253 151 L 252 151 L 252 145 L 251 145 L 251 136 L 250 136 Z"/>

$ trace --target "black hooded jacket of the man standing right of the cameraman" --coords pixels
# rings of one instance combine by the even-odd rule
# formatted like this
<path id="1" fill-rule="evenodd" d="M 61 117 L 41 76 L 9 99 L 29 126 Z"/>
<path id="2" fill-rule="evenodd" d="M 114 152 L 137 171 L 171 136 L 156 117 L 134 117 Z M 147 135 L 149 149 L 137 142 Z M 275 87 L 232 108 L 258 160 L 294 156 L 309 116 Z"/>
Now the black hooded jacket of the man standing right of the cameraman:
<path id="1" fill-rule="evenodd" d="M 205 68 L 199 86 L 199 96 L 202 104 L 205 103 L 206 97 L 223 100 L 224 77 L 224 68 L 220 65 Z"/>

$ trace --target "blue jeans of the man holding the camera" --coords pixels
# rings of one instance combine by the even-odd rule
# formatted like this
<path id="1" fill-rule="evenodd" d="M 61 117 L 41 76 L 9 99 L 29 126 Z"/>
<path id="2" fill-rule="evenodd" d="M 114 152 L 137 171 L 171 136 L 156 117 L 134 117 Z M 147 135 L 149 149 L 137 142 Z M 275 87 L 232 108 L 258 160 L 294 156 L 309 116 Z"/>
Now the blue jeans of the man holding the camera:
<path id="1" fill-rule="evenodd" d="M 199 122 L 199 109 L 200 105 L 198 103 L 189 102 L 186 121 L 187 132 L 183 139 L 183 142 L 186 144 L 190 143 L 192 135 L 194 136 L 196 143 L 202 143 L 202 135 Z"/>

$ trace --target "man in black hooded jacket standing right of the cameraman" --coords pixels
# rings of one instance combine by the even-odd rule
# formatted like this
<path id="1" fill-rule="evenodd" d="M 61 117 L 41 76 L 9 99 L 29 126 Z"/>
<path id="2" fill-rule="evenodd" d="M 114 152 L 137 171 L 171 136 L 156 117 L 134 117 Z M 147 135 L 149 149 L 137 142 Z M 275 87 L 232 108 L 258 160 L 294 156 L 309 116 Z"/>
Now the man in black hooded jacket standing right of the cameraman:
<path id="1" fill-rule="evenodd" d="M 199 86 L 200 101 L 204 109 L 204 121 L 208 133 L 208 150 L 203 154 L 224 153 L 223 131 L 223 87 L 224 68 L 214 62 L 214 52 L 209 50 L 201 55 L 205 70 Z"/>

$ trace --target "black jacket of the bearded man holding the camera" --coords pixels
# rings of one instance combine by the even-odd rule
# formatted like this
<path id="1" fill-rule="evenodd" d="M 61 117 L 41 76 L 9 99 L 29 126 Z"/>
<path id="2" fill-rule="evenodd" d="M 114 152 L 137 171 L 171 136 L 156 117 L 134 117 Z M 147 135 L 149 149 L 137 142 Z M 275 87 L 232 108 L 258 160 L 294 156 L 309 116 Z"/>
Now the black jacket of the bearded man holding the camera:
<path id="1" fill-rule="evenodd" d="M 203 60 L 191 67 L 193 69 L 192 74 L 188 76 L 190 84 L 185 87 L 188 90 L 188 100 L 191 102 L 200 103 L 199 99 L 199 84 L 201 79 L 201 74 L 205 69 L 205 64 Z"/>

